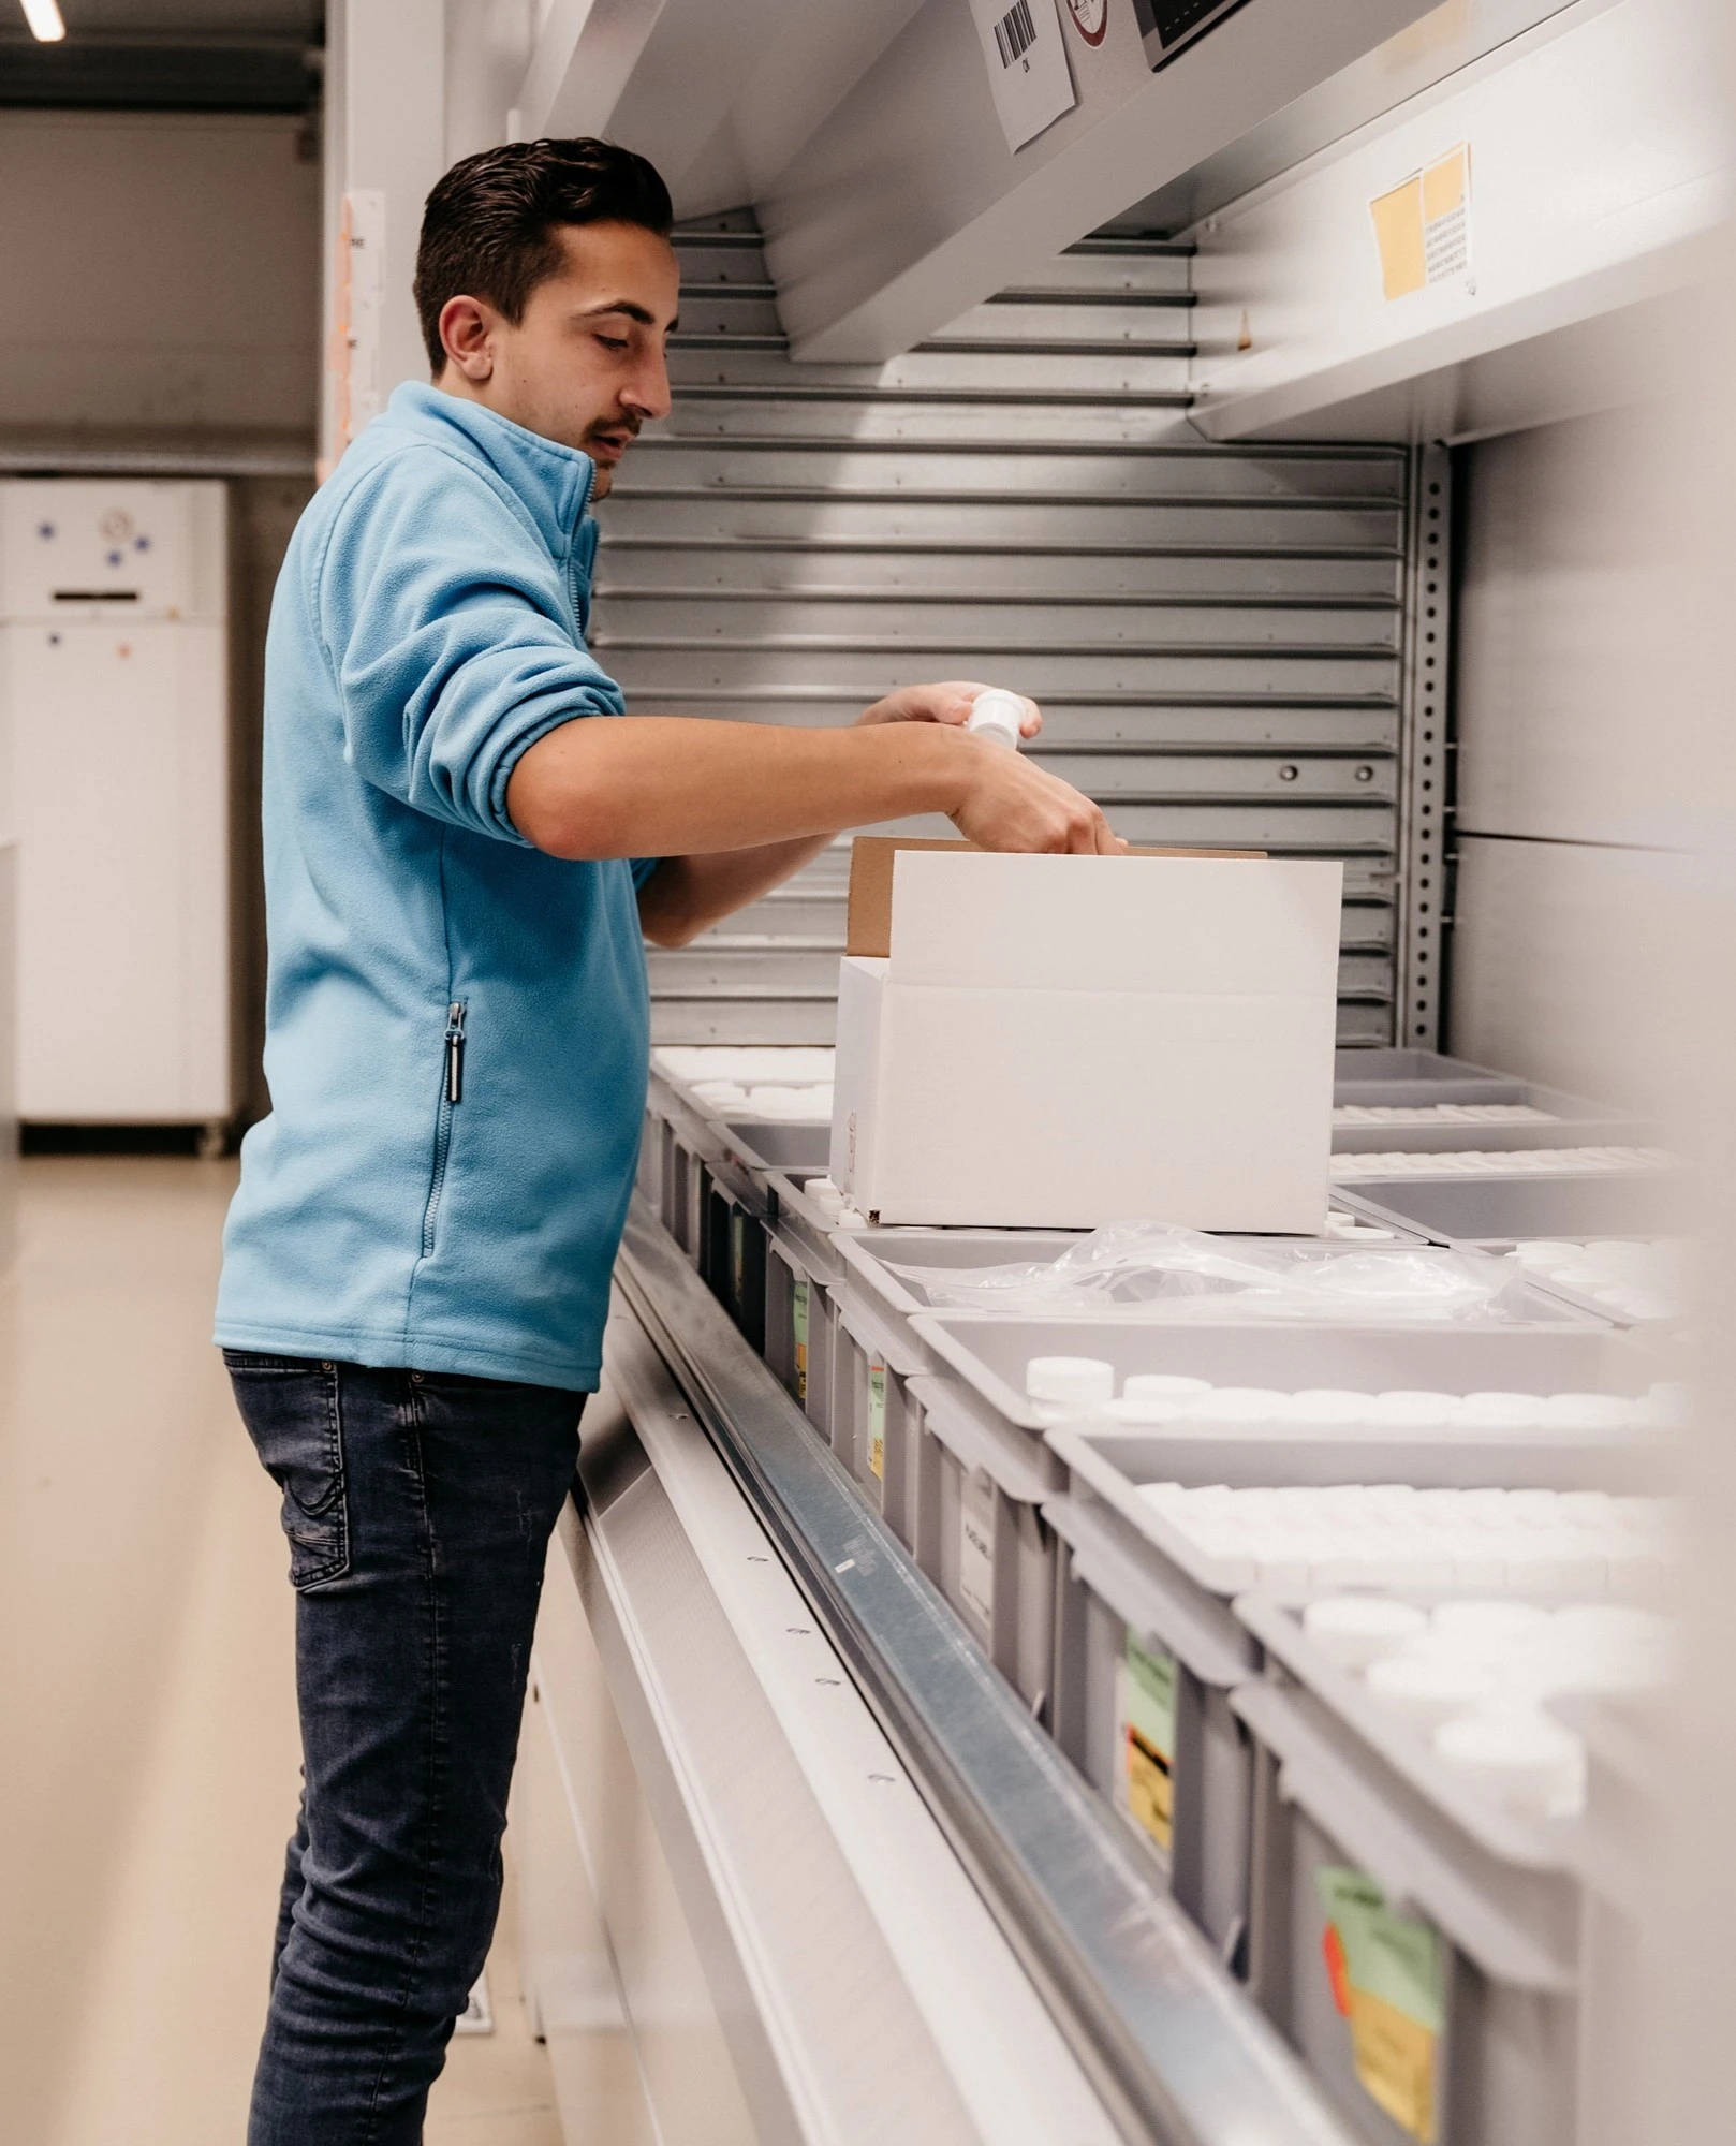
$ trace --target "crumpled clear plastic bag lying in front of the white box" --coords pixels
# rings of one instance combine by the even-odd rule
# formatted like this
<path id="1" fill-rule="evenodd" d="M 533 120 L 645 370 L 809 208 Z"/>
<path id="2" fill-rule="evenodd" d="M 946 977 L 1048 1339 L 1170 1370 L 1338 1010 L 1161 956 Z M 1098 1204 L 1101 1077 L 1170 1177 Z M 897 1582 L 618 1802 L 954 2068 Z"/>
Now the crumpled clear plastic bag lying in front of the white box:
<path id="1" fill-rule="evenodd" d="M 1506 1260 L 1438 1245 L 1339 1247 L 1257 1243 L 1109 1223 L 1047 1266 L 895 1266 L 936 1309 L 1137 1311 L 1189 1320 L 1513 1320 L 1526 1315 L 1521 1277 Z"/>

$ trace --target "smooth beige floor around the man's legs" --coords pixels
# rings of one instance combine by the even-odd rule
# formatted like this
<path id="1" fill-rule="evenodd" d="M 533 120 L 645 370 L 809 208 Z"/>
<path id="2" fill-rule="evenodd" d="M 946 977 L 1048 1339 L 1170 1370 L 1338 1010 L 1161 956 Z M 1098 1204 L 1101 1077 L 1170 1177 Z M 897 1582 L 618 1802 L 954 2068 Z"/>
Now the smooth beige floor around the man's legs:
<path id="1" fill-rule="evenodd" d="M 270 1483 L 210 1348 L 232 1165 L 30 1161 L 0 1281 L 0 2137 L 240 2146 L 296 1792 Z M 509 1888 L 511 1899 L 511 1888 Z M 429 2146 L 558 2146 L 502 1929 Z"/>

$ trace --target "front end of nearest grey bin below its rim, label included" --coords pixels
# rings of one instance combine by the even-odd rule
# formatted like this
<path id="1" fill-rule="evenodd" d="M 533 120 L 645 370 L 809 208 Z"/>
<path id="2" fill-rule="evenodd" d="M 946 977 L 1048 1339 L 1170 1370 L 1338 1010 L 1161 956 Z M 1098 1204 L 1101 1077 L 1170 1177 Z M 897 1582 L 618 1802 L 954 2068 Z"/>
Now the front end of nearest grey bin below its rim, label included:
<path id="1" fill-rule="evenodd" d="M 1494 1852 L 1307 1691 L 1232 1704 L 1255 1736 L 1249 1985 L 1358 2137 L 1586 2146 L 1562 1861 Z M 1382 1976 L 1386 2002 L 1352 1987 Z"/>

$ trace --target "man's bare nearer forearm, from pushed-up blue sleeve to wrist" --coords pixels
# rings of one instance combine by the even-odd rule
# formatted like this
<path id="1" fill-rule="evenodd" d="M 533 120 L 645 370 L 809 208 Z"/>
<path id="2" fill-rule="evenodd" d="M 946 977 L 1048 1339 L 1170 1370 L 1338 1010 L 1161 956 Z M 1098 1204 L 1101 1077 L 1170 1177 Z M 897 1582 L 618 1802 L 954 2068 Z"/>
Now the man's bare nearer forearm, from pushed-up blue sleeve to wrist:
<path id="1" fill-rule="evenodd" d="M 777 730 L 678 715 L 562 723 L 519 760 L 513 826 L 551 856 L 689 856 L 953 813 L 994 751 L 933 723 Z"/>

